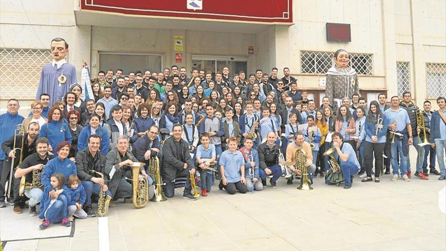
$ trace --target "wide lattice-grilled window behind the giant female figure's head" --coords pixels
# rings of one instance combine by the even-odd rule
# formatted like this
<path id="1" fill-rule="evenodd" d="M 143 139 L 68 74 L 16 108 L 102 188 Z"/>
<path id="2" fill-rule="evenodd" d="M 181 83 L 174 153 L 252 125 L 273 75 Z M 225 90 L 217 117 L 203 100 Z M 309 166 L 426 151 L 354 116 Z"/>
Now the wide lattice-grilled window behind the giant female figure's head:
<path id="1" fill-rule="evenodd" d="M 333 52 L 301 51 L 304 74 L 325 74 L 334 65 Z M 350 65 L 358 75 L 373 75 L 373 54 L 350 53 Z"/>

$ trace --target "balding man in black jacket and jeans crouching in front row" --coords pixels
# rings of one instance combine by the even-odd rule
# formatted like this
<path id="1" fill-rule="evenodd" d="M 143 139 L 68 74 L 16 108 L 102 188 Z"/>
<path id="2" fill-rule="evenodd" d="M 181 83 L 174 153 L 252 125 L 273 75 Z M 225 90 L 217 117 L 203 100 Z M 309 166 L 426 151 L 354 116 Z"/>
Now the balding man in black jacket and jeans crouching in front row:
<path id="1" fill-rule="evenodd" d="M 276 134 L 269 132 L 267 134 L 267 141 L 257 148 L 259 174 L 262 179 L 264 187 L 267 185 L 267 175 L 271 176 L 270 184 L 272 188 L 277 188 L 276 181 L 282 176 L 282 168 L 278 165 L 279 162 L 279 146 L 276 144 Z"/>

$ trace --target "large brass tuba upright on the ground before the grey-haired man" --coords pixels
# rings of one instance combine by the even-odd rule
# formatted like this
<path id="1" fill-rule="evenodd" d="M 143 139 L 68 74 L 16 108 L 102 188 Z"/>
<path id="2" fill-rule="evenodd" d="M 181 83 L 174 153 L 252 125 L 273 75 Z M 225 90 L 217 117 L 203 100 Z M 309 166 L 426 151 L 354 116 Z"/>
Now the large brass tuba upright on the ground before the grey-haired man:
<path id="1" fill-rule="evenodd" d="M 148 201 L 147 179 L 139 173 L 139 169 L 144 165 L 141 162 L 133 162 L 133 165 L 130 166 L 132 168 L 132 178 L 126 178 L 126 180 L 132 181 L 133 205 L 136 208 L 144 207 Z"/>

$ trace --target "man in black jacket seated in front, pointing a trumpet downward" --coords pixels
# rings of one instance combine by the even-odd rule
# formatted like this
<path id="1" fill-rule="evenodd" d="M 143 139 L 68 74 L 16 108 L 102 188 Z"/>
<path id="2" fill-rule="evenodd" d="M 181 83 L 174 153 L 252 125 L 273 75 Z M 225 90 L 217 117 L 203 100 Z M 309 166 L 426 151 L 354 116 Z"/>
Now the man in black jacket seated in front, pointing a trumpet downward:
<path id="1" fill-rule="evenodd" d="M 164 141 L 163 161 L 161 163 L 161 175 L 164 186 L 164 194 L 172 198 L 175 190 L 175 178 L 186 177 L 186 186 L 183 192 L 184 199 L 196 200 L 192 196 L 190 174 L 195 174 L 195 166 L 189 154 L 189 144 L 181 138 L 182 126 L 176 124 L 172 128 L 172 136 Z"/>

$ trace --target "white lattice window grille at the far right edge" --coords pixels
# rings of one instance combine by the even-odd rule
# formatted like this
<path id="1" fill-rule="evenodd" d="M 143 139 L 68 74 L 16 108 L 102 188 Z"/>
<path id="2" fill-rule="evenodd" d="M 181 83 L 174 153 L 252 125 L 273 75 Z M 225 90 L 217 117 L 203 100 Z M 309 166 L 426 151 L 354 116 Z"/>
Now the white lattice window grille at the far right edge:
<path id="1" fill-rule="evenodd" d="M 426 63 L 426 89 L 428 98 L 446 96 L 446 63 Z"/>

